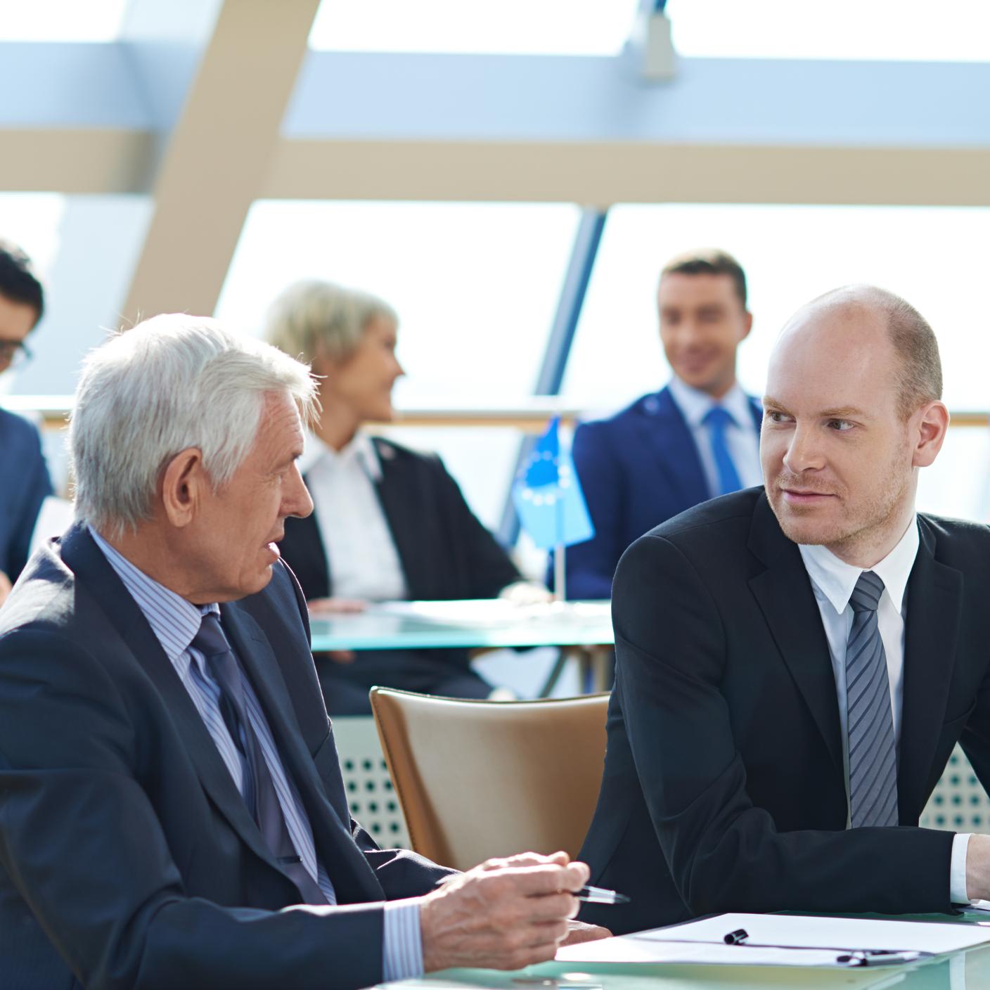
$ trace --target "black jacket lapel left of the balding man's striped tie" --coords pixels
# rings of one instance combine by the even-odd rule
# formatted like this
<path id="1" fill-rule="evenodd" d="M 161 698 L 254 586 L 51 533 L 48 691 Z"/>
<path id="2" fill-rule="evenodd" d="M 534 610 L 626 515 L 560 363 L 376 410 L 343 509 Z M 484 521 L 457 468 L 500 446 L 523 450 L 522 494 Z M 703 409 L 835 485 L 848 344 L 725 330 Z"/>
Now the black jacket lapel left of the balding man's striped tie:
<path id="1" fill-rule="evenodd" d="M 844 781 L 836 675 L 822 614 L 801 552 L 781 532 L 765 494 L 753 511 L 749 549 L 766 564 L 749 587 Z"/>

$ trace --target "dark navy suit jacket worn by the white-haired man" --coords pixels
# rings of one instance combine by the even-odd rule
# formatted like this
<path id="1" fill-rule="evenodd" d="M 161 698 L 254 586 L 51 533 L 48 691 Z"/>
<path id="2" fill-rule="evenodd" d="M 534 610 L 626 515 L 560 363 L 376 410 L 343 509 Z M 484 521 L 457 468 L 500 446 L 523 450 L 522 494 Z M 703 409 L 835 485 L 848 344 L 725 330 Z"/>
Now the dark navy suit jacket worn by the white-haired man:
<path id="1" fill-rule="evenodd" d="M 345 907 L 282 910 L 298 894 L 138 605 L 73 527 L 0 614 L 4 987 L 367 986 L 374 902 L 448 872 L 350 818 L 288 569 L 221 610 Z"/>

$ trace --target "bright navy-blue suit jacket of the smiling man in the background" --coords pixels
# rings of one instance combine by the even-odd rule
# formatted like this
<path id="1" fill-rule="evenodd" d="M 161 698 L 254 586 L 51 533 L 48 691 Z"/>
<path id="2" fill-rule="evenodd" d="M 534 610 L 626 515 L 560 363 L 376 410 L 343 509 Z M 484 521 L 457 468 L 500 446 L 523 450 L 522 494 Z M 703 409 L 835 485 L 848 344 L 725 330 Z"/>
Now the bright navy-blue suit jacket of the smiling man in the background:
<path id="1" fill-rule="evenodd" d="M 762 410 L 752 400 L 751 406 L 759 430 Z M 567 597 L 610 598 L 626 547 L 714 493 L 668 388 L 610 419 L 582 424 L 572 453 L 595 536 L 567 547 Z"/>

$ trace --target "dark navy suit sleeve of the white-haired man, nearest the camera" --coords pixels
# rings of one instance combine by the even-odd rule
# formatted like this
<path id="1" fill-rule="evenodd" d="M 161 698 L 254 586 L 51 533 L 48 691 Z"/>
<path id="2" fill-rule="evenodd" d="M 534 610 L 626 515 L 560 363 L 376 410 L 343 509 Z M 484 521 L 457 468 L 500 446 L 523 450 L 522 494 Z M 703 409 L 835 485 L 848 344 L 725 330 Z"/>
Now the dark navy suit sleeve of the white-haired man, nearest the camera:
<path id="1" fill-rule="evenodd" d="M 382 977 L 381 905 L 262 911 L 190 897 L 139 778 L 144 727 L 47 630 L 0 641 L 0 863 L 92 990 L 351 990 Z"/>

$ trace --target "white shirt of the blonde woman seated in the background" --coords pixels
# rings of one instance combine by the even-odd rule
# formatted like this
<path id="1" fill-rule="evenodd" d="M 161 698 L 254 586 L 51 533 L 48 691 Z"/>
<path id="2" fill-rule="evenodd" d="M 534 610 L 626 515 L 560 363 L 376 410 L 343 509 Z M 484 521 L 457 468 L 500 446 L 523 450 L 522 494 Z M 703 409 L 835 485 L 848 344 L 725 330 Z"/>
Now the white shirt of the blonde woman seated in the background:
<path id="1" fill-rule="evenodd" d="M 375 483 L 381 463 L 362 433 L 334 450 L 312 434 L 300 461 L 313 497 L 335 598 L 401 601 L 408 595 Z"/>

